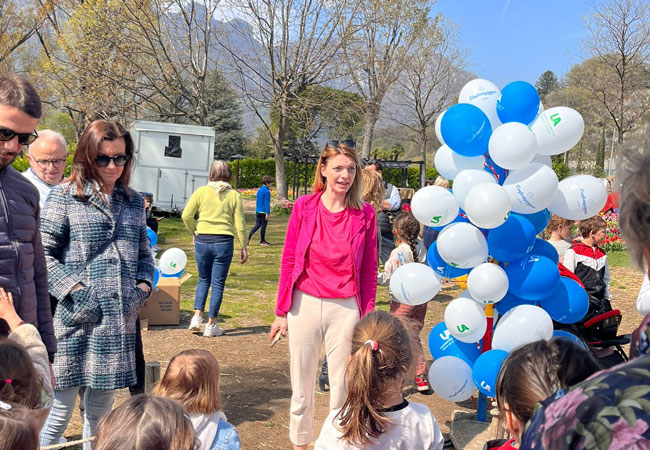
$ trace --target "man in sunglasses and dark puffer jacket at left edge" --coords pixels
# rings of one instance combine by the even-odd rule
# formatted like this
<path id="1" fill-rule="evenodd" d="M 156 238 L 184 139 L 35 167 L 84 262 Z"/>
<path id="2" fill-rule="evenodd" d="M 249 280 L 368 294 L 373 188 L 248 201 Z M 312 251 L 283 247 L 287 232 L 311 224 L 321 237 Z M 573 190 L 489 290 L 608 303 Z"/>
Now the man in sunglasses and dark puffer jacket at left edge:
<path id="1" fill-rule="evenodd" d="M 27 80 L 0 75 L 0 287 L 13 295 L 20 318 L 38 328 L 52 360 L 56 340 L 38 231 L 38 190 L 11 167 L 38 137 L 41 112 L 41 99 Z M 0 335 L 8 331 L 0 320 Z"/>

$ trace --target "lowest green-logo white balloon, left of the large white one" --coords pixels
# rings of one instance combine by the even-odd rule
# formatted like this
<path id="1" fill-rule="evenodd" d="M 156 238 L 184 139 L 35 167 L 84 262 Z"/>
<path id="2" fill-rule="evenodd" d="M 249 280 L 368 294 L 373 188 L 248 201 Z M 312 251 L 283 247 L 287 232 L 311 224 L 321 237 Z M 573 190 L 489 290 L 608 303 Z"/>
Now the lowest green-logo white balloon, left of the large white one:
<path id="1" fill-rule="evenodd" d="M 445 325 L 461 342 L 478 342 L 487 329 L 483 305 L 469 298 L 452 300 L 445 308 Z"/>

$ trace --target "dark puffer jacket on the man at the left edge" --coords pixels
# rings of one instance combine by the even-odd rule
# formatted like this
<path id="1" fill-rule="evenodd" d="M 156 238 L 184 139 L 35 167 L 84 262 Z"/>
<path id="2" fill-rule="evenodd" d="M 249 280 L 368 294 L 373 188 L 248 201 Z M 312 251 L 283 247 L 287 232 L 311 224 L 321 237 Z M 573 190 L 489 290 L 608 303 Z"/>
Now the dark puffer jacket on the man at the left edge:
<path id="1" fill-rule="evenodd" d="M 0 287 L 11 292 L 20 318 L 38 328 L 53 355 L 56 339 L 39 214 L 34 185 L 13 167 L 0 170 Z M 7 332 L 6 322 L 0 319 L 0 335 Z"/>

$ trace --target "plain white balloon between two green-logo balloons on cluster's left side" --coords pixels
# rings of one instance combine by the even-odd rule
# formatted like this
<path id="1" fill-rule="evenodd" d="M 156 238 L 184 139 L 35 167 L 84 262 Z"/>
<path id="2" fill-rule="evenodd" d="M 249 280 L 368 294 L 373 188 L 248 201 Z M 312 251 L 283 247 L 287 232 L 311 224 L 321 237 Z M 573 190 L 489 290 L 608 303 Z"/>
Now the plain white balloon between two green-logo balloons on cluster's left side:
<path id="1" fill-rule="evenodd" d="M 440 257 L 452 267 L 469 269 L 485 262 L 488 257 L 485 236 L 469 223 L 448 225 L 440 232 L 436 242 Z"/>

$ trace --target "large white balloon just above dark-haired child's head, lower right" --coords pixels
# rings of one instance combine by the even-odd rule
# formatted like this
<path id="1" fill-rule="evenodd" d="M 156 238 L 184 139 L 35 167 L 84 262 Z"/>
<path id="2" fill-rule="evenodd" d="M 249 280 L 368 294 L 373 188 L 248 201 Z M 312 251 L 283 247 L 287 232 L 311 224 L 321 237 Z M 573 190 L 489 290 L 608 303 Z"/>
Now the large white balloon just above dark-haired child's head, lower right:
<path id="1" fill-rule="evenodd" d="M 505 313 L 494 330 L 492 348 L 507 352 L 553 337 L 553 320 L 539 306 L 519 305 Z"/>

